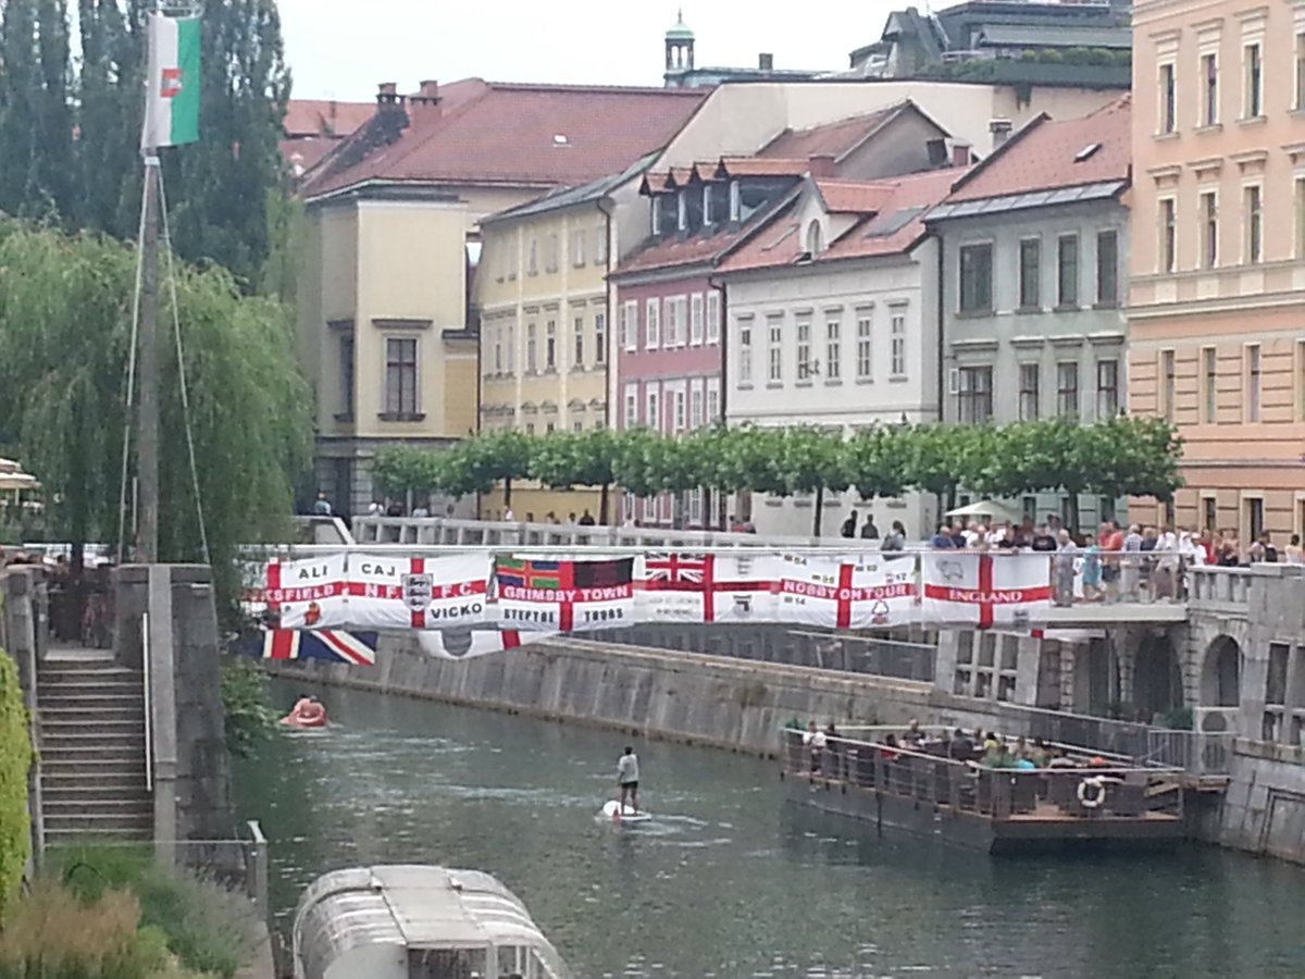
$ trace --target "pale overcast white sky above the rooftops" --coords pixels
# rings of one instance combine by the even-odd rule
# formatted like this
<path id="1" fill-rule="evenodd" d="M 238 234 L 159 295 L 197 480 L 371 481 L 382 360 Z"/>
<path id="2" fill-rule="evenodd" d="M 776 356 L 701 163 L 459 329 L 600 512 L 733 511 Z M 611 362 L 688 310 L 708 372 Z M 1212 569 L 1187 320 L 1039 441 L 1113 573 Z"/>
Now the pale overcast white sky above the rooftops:
<path id="1" fill-rule="evenodd" d="M 694 0 L 684 21 L 699 67 L 838 70 L 877 40 L 894 0 Z M 919 4 L 921 9 L 925 4 Z M 660 85 L 663 0 L 279 0 L 296 98 L 364 102 L 423 78 Z"/>

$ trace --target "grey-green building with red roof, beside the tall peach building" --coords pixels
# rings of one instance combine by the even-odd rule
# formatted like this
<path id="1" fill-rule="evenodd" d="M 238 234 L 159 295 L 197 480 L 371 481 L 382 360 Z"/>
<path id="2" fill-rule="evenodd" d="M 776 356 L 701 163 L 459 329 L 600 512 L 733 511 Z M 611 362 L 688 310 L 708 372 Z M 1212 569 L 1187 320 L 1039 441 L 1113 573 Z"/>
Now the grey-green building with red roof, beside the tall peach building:
<path id="1" fill-rule="evenodd" d="M 930 211 L 942 243 L 945 422 L 1091 424 L 1126 409 L 1130 119 L 1128 97 L 1083 119 L 1039 116 Z M 1077 503 L 1037 493 L 1011 508 L 1077 513 L 1082 527 L 1122 516 L 1114 500 Z"/>

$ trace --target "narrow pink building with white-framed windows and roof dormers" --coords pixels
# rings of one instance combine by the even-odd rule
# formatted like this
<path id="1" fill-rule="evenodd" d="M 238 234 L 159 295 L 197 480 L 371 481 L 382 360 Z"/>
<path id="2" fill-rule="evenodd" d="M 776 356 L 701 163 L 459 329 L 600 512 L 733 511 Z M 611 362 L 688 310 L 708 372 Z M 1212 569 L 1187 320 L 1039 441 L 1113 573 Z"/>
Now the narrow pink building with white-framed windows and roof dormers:
<path id="1" fill-rule="evenodd" d="M 947 133 L 912 102 L 804 131 L 754 157 L 649 174 L 652 234 L 608 278 L 616 335 L 611 390 L 619 428 L 675 433 L 724 419 L 722 334 L 728 307 L 718 265 L 765 226 L 813 174 L 852 180 L 944 164 Z M 701 492 L 622 503 L 622 520 L 706 527 L 726 514 Z"/>

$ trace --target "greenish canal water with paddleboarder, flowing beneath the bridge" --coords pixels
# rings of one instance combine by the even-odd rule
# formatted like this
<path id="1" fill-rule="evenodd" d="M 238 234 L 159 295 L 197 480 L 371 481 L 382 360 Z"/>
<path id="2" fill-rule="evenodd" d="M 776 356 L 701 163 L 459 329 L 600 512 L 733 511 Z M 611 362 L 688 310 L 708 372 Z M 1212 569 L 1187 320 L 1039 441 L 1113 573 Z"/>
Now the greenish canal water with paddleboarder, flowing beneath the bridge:
<path id="1" fill-rule="evenodd" d="M 786 805 L 774 765 L 662 743 L 637 745 L 656 818 L 620 829 L 595 818 L 620 735 L 320 696 L 335 726 L 236 771 L 283 925 L 324 871 L 414 862 L 499 876 L 578 976 L 1305 975 L 1295 867 L 1195 846 L 996 859 L 876 838 Z"/>

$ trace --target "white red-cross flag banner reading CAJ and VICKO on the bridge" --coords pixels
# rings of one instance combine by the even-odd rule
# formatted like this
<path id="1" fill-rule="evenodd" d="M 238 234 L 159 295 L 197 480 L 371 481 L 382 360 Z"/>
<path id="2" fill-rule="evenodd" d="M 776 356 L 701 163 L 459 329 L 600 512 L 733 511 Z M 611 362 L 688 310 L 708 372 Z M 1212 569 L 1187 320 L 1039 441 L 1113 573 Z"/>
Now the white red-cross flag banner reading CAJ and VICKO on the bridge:
<path id="1" fill-rule="evenodd" d="M 368 629 L 448 629 L 488 617 L 489 552 L 348 556 L 348 620 Z"/>

